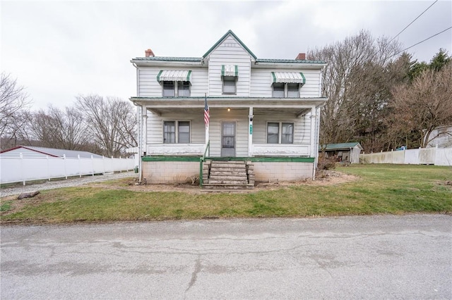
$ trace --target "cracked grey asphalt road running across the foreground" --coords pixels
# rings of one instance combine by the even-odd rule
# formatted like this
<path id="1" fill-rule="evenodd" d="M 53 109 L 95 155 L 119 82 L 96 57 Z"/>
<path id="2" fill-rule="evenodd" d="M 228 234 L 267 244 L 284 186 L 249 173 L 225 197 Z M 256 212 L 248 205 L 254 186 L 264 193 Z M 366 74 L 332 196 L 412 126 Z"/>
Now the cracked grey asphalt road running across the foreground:
<path id="1" fill-rule="evenodd" d="M 450 215 L 1 227 L 1 299 L 451 299 Z"/>

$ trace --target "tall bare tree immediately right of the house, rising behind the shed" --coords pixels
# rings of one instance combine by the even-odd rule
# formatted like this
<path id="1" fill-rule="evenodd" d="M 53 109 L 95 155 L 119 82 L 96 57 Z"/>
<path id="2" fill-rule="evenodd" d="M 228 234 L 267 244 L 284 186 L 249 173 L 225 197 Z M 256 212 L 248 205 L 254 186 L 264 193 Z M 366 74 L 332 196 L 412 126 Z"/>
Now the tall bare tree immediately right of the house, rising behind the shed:
<path id="1" fill-rule="evenodd" d="M 342 42 L 308 52 L 308 59 L 328 62 L 323 70 L 322 94 L 328 102 L 321 111 L 322 144 L 356 139 L 362 142 L 359 132 L 373 132 L 379 127 L 377 114 L 388 101 L 386 95 L 379 94 L 383 83 L 379 82 L 380 74 L 398 49 L 397 42 L 388 42 L 385 37 L 374 39 L 369 32 L 361 31 Z M 375 121 L 371 126 L 362 123 L 369 117 Z"/>

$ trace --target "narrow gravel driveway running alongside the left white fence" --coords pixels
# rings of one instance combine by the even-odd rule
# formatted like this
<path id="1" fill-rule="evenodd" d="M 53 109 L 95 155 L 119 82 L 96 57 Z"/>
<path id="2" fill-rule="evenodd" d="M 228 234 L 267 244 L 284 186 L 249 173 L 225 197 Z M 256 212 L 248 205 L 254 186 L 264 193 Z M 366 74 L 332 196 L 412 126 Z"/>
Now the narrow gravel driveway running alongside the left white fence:
<path id="1" fill-rule="evenodd" d="M 25 186 L 17 186 L 17 187 L 7 187 L 4 189 L 0 189 L 0 196 L 11 196 L 18 195 L 21 193 L 29 193 L 42 189 L 58 189 L 60 187 L 76 187 L 77 185 L 85 185 L 90 182 L 101 182 L 107 180 L 114 180 L 124 177 L 137 177 L 138 174 L 133 171 L 130 172 L 122 172 L 122 173 L 106 173 L 104 175 L 95 175 L 95 176 L 83 176 L 83 177 L 72 177 L 68 180 L 54 180 L 47 181 L 44 183 L 39 183 L 35 185 L 25 185 Z"/>

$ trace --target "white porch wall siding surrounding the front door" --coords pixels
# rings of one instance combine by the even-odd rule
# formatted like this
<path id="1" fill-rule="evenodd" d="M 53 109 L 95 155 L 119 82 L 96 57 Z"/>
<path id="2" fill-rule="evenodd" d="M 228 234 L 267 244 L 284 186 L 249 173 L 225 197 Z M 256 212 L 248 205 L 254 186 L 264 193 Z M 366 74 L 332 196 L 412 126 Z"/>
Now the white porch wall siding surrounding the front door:
<path id="1" fill-rule="evenodd" d="M 236 122 L 236 156 L 248 156 L 248 110 L 210 110 L 210 156 L 221 156 L 221 121 Z"/>

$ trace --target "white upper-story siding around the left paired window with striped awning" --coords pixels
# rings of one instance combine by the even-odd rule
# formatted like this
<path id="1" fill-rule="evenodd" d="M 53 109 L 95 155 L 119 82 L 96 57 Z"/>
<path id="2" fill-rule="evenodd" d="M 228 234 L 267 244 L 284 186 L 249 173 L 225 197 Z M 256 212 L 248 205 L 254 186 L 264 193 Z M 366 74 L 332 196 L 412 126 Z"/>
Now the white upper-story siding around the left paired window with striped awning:
<path id="1" fill-rule="evenodd" d="M 191 96 L 204 96 L 208 92 L 207 68 L 168 68 L 168 67 L 140 67 L 138 75 L 138 95 L 141 97 L 161 97 L 162 86 L 157 82 L 160 70 L 191 70 Z"/>

